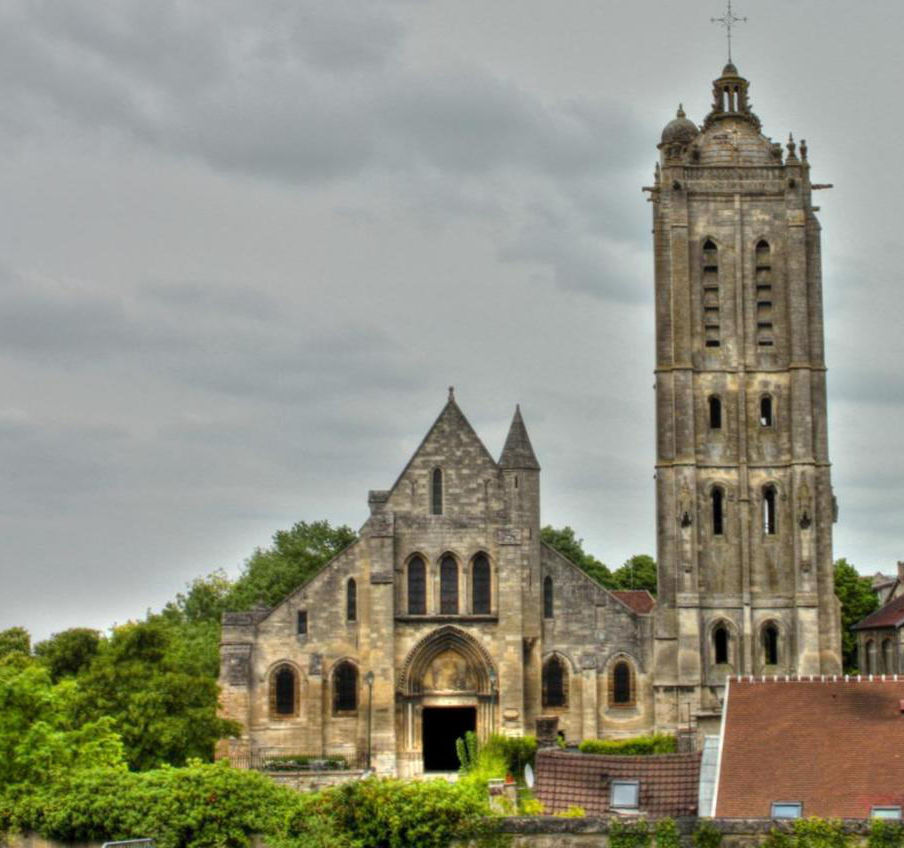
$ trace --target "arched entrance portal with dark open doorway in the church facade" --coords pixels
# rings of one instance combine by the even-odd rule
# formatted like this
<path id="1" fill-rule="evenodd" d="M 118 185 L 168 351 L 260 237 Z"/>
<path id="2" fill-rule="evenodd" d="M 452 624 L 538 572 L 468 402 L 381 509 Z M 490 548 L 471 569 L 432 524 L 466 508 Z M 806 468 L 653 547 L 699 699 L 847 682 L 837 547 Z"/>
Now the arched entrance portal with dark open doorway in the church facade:
<path id="1" fill-rule="evenodd" d="M 441 627 L 421 639 L 399 676 L 400 770 L 455 771 L 455 740 L 495 728 L 495 680 L 489 654 L 463 630 Z"/>

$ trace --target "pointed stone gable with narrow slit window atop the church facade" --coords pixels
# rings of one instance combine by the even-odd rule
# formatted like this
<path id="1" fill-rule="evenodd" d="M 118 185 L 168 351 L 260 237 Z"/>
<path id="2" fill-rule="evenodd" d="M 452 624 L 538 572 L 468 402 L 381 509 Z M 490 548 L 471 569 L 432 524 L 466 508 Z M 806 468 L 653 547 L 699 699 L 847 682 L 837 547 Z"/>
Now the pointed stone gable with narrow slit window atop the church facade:
<path id="1" fill-rule="evenodd" d="M 386 509 L 430 514 L 437 470 L 442 475 L 443 514 L 485 509 L 487 484 L 495 484 L 499 468 L 451 388 L 449 400 L 393 485 Z"/>

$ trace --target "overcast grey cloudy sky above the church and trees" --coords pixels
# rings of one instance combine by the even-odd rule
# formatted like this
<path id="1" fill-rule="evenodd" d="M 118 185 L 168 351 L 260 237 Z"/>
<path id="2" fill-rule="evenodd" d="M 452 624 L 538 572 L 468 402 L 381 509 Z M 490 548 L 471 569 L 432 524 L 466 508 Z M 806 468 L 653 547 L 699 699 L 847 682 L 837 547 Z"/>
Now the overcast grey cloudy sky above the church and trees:
<path id="1" fill-rule="evenodd" d="M 723 0 L 4 0 L 0 628 L 358 527 L 455 385 L 543 520 L 655 553 L 651 182 Z M 738 0 L 821 193 L 835 555 L 904 559 L 900 0 Z"/>

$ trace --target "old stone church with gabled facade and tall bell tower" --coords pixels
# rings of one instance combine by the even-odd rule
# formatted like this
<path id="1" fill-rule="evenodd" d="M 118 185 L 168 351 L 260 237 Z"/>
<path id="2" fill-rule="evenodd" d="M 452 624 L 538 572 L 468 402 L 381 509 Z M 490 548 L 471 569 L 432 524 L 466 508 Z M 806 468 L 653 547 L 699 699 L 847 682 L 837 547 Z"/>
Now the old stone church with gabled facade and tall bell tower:
<path id="1" fill-rule="evenodd" d="M 762 133 L 731 62 L 703 124 L 679 108 L 658 148 L 655 601 L 542 543 L 520 410 L 494 459 L 450 389 L 358 540 L 276 607 L 224 615 L 222 714 L 243 732 L 221 755 L 411 777 L 457 768 L 467 730 L 707 733 L 728 675 L 840 672 L 825 186 L 805 142 Z"/>

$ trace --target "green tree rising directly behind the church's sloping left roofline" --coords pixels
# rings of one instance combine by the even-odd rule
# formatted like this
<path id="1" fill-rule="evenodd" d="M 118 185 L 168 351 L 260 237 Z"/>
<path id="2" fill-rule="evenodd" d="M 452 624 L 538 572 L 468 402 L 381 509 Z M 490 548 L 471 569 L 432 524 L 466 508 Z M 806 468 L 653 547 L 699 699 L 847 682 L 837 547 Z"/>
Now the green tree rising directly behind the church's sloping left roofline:
<path id="1" fill-rule="evenodd" d="M 271 547 L 258 548 L 248 558 L 223 603 L 237 611 L 274 606 L 357 538 L 350 527 L 332 527 L 328 521 L 299 521 L 278 530 Z"/>

